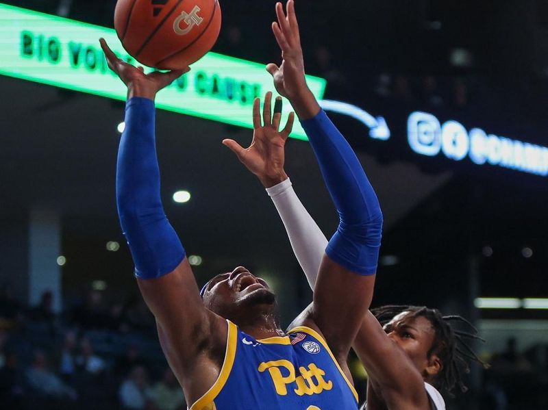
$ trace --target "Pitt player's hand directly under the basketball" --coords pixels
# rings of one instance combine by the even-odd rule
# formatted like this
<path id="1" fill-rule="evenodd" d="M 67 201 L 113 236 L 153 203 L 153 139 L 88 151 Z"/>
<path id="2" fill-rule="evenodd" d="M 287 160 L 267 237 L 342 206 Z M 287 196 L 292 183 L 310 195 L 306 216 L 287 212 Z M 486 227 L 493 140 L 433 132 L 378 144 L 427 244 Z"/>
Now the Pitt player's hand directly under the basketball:
<path id="1" fill-rule="evenodd" d="M 103 52 L 105 53 L 108 67 L 114 71 L 127 86 L 128 99 L 131 97 L 154 99 L 158 91 L 169 86 L 175 79 L 190 71 L 190 68 L 186 67 L 182 70 L 167 71 L 166 73 L 153 71 L 152 73 L 145 74 L 144 69 L 141 66 L 132 66 L 132 64 L 127 64 L 127 62 L 121 60 L 121 58 L 116 57 L 116 54 L 108 47 L 104 38 L 100 38 L 99 43 L 101 44 L 101 49 L 103 49 Z"/>

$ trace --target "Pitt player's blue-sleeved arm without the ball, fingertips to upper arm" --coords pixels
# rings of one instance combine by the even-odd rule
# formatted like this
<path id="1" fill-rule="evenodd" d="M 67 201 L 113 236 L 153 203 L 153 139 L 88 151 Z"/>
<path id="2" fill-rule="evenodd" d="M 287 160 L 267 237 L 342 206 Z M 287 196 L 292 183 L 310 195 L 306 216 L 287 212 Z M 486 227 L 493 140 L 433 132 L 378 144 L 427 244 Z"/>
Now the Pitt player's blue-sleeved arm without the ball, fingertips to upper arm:
<path id="1" fill-rule="evenodd" d="M 340 215 L 340 225 L 319 269 L 310 313 L 338 359 L 344 361 L 371 303 L 382 212 L 358 158 L 306 85 L 293 0 L 286 10 L 277 3 L 277 23 L 272 27 L 283 62 L 279 67 L 269 64 L 267 70 L 277 91 L 295 108 Z"/>

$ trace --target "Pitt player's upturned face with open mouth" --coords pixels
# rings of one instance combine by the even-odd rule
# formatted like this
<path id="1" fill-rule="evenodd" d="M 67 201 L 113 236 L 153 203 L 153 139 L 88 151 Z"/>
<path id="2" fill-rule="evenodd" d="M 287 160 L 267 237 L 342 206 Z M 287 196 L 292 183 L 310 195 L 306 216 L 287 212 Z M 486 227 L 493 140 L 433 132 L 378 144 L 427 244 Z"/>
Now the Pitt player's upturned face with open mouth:
<path id="1" fill-rule="evenodd" d="M 243 266 L 211 279 L 203 294 L 203 302 L 211 311 L 238 323 L 253 305 L 275 305 L 275 295 L 268 283 L 251 274 Z"/>

